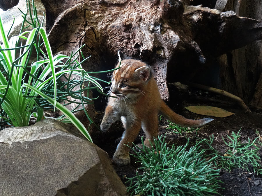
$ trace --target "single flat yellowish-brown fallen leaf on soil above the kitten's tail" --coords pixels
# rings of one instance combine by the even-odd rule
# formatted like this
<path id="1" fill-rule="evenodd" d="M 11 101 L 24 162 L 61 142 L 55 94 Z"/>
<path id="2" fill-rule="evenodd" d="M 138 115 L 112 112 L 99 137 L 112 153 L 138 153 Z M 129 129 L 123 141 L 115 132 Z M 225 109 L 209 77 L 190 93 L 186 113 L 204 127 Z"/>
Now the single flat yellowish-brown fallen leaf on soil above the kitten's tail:
<path id="1" fill-rule="evenodd" d="M 235 114 L 232 112 L 228 112 L 224 109 L 221 109 L 219 107 L 204 106 L 204 105 L 188 106 L 185 107 L 185 109 L 189 110 L 190 112 L 194 112 L 196 114 L 202 114 L 206 116 L 226 117 Z"/>

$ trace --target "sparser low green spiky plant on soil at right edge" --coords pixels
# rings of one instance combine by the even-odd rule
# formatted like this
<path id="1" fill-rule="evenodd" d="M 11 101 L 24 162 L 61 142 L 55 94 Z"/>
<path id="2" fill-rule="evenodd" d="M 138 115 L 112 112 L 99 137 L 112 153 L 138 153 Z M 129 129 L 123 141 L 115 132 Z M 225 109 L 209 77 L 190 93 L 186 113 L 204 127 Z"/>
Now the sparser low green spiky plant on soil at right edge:
<path id="1" fill-rule="evenodd" d="M 249 168 L 253 168 L 254 173 L 257 175 L 262 174 L 261 158 L 258 152 L 258 146 L 261 145 L 261 142 L 258 141 L 259 137 L 254 139 L 254 141 L 250 141 L 248 138 L 248 141 L 241 142 L 240 130 L 237 134 L 232 132 L 231 136 L 227 135 L 229 142 L 226 142 L 225 139 L 222 138 L 226 144 L 225 153 L 221 153 L 213 148 L 214 135 L 212 135 L 212 137 L 209 136 L 209 140 L 202 140 L 203 143 L 207 145 L 206 151 L 209 152 L 206 157 L 213 157 L 213 164 L 217 168 L 222 168 L 226 171 L 231 171 L 233 168 L 241 168 L 252 172 Z M 216 157 L 215 159 L 214 156 Z"/>

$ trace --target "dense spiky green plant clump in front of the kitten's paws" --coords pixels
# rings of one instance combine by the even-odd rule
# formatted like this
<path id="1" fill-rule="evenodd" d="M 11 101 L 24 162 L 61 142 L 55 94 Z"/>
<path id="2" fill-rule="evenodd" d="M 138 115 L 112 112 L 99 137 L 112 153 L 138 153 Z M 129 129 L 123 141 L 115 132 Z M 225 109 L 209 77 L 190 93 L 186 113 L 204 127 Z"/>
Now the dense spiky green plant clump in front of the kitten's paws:
<path id="1" fill-rule="evenodd" d="M 164 137 L 154 139 L 152 148 L 143 143 L 136 152 L 141 163 L 136 176 L 129 178 L 127 188 L 131 195 L 214 195 L 219 188 L 219 170 L 212 167 L 213 159 L 203 158 L 205 150 L 201 150 L 201 142 L 193 147 L 167 146 Z M 153 146 L 154 149 L 153 149 Z M 188 150 L 186 150 L 189 148 Z M 134 148 L 133 148 L 134 150 Z"/>

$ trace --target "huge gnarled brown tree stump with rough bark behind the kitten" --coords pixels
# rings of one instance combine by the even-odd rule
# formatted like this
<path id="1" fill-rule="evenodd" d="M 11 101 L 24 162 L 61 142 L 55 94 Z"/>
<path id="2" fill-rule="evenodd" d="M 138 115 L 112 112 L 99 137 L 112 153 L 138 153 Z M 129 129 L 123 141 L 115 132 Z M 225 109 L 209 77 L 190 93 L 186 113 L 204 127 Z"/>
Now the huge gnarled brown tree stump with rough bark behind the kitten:
<path id="1" fill-rule="evenodd" d="M 120 49 L 152 66 L 165 100 L 169 98 L 167 80 L 191 80 L 212 66 L 215 57 L 262 39 L 261 21 L 184 6 L 178 0 L 43 3 L 49 13 L 47 26 L 52 26 L 49 40 L 54 53 L 86 44 L 83 53 L 92 57 L 84 68 L 98 70 L 111 60 L 108 55 Z"/>

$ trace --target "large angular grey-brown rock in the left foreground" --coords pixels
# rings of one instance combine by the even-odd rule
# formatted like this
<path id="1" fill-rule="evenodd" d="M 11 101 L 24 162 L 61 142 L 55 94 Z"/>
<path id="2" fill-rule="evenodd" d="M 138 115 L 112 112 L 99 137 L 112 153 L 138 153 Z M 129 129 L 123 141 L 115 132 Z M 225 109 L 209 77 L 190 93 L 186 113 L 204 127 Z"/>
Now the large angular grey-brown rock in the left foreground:
<path id="1" fill-rule="evenodd" d="M 15 195 L 128 195 L 105 151 L 45 119 L 0 131 L 0 193 Z"/>

